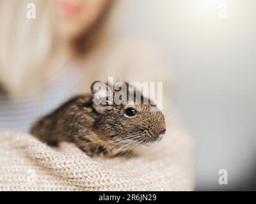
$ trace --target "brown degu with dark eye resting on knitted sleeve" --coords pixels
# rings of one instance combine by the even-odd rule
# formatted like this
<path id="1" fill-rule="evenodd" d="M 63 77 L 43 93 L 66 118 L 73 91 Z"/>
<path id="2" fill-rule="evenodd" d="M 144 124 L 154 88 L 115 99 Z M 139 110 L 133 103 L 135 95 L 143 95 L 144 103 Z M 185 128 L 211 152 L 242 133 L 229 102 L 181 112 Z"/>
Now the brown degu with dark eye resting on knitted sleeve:
<path id="1" fill-rule="evenodd" d="M 138 90 L 122 83 L 122 89 L 115 91 L 97 81 L 91 91 L 35 122 L 31 135 L 54 146 L 74 142 L 91 157 L 131 156 L 141 145 L 163 138 L 163 113 L 150 99 L 137 97 Z"/>

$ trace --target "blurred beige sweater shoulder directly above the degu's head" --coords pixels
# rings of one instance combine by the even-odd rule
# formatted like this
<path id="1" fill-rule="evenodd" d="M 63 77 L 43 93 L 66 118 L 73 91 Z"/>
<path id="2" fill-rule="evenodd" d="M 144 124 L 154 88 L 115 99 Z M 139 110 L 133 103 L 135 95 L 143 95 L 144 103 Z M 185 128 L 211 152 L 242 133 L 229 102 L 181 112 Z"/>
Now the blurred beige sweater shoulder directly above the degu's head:
<path id="1" fill-rule="evenodd" d="M 87 78 L 126 82 L 163 82 L 164 91 L 172 92 L 174 80 L 161 49 L 149 40 L 120 38 L 108 40 L 91 53 L 86 61 Z"/>

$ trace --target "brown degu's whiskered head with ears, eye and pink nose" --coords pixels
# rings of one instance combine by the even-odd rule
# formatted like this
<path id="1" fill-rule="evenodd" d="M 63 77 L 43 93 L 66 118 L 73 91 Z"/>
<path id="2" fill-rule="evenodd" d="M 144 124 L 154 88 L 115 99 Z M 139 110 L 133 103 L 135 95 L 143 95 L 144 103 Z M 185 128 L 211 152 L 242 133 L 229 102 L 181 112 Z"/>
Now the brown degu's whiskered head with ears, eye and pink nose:
<path id="1" fill-rule="evenodd" d="M 93 107 L 100 114 L 96 121 L 99 133 L 123 145 L 129 142 L 149 145 L 163 138 L 166 131 L 163 113 L 134 87 L 123 82 L 112 86 L 97 81 L 91 90 Z"/>

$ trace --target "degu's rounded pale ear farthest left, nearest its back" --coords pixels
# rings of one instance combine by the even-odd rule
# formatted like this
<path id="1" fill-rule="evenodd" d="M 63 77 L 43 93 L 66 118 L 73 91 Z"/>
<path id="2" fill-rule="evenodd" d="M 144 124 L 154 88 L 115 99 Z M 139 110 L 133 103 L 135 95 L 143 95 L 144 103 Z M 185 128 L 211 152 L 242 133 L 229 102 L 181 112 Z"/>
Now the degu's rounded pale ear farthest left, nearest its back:
<path id="1" fill-rule="evenodd" d="M 93 107 L 95 110 L 104 114 L 113 108 L 113 91 L 104 82 L 96 81 L 91 85 L 93 94 Z"/>

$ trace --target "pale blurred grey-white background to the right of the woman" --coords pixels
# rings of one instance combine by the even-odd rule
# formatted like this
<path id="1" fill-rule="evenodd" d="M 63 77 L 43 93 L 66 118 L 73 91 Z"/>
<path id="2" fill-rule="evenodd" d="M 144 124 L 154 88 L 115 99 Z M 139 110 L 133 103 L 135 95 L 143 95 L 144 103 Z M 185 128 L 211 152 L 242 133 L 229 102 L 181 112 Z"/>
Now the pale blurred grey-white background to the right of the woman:
<path id="1" fill-rule="evenodd" d="M 121 1 L 115 34 L 154 41 L 175 78 L 173 101 L 196 139 L 196 190 L 256 190 L 256 1 Z"/>

